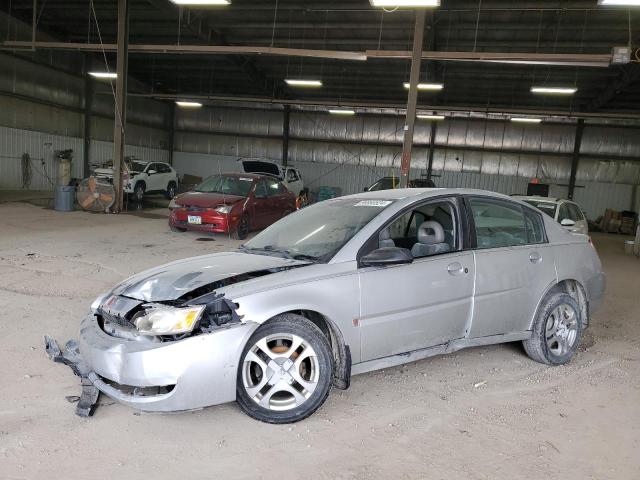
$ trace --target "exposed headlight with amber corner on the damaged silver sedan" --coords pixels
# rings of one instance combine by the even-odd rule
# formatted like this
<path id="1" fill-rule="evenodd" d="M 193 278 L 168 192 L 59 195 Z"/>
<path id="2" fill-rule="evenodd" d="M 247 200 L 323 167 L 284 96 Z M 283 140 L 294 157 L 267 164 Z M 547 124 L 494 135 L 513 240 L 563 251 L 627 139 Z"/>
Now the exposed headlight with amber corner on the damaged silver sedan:
<path id="1" fill-rule="evenodd" d="M 170 307 L 150 305 L 144 315 L 134 319 L 138 331 L 146 335 L 179 335 L 189 333 L 198 323 L 205 305 Z"/>

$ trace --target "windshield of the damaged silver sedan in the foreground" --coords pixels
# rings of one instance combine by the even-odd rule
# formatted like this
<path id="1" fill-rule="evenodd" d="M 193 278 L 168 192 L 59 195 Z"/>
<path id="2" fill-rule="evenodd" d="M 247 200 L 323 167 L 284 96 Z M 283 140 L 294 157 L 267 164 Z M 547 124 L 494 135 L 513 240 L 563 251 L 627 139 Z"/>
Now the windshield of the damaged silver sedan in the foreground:
<path id="1" fill-rule="evenodd" d="M 284 217 L 245 243 L 249 253 L 328 261 L 390 200 L 334 199 Z"/>

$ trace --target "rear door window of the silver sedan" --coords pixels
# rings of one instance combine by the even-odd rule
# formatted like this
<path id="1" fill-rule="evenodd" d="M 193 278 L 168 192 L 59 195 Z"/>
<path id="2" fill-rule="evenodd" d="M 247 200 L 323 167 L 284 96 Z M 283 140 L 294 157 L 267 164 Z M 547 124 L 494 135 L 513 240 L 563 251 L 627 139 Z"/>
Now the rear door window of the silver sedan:
<path id="1" fill-rule="evenodd" d="M 478 248 L 511 247 L 529 243 L 522 207 L 509 202 L 470 198 Z"/>

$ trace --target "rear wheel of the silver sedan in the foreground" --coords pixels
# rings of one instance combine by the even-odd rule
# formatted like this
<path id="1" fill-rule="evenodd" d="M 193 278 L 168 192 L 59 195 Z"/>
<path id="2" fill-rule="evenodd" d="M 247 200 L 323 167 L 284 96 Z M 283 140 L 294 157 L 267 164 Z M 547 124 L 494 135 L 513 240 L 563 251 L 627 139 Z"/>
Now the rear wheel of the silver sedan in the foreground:
<path id="1" fill-rule="evenodd" d="M 573 315 L 573 321 L 570 322 L 567 315 Z M 556 322 L 570 322 L 571 324 L 575 322 L 575 333 L 567 333 L 566 343 L 563 336 L 565 332 L 573 331 L 573 328 L 563 327 L 560 334 L 554 333 L 553 325 Z M 531 338 L 524 340 L 522 344 L 527 355 L 536 362 L 547 365 L 563 365 L 571 360 L 578 348 L 582 338 L 582 329 L 583 319 L 578 302 L 566 293 L 556 293 L 548 295 L 542 301 L 533 323 Z"/>

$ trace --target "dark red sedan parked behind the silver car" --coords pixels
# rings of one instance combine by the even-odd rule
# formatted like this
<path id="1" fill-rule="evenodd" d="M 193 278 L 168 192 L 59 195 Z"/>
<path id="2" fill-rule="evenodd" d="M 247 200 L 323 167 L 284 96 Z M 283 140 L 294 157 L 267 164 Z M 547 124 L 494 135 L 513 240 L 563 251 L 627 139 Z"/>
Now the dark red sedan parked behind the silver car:
<path id="1" fill-rule="evenodd" d="M 278 180 L 265 175 L 213 175 L 169 205 L 174 231 L 230 233 L 244 239 L 293 212 L 295 195 Z"/>

